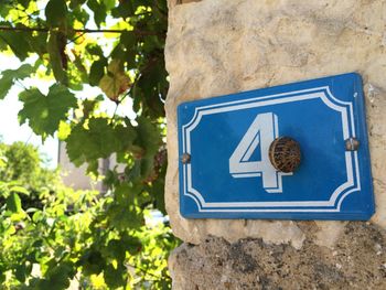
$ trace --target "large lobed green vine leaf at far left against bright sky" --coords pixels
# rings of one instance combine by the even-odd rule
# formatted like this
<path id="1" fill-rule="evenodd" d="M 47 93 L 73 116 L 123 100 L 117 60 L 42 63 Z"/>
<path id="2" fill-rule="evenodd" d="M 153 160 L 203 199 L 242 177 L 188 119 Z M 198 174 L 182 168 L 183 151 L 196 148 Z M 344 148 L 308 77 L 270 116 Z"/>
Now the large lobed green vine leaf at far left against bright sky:
<path id="1" fill-rule="evenodd" d="M 66 87 L 55 84 L 50 87 L 47 96 L 37 88 L 22 92 L 19 99 L 24 103 L 19 111 L 19 121 L 29 121 L 30 127 L 42 136 L 53 136 L 61 120 L 66 120 L 69 108 L 76 107 L 76 98 Z"/>

